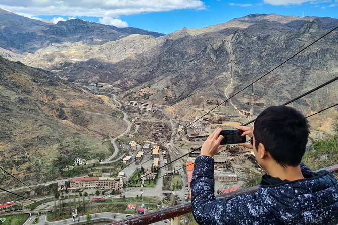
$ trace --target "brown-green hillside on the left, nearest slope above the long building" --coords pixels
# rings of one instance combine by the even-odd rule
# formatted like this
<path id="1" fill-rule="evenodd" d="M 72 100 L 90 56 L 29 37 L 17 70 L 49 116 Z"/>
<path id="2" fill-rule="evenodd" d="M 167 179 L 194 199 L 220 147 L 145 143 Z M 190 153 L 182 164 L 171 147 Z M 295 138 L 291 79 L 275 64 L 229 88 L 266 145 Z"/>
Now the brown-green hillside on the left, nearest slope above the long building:
<path id="1" fill-rule="evenodd" d="M 104 97 L 0 58 L 0 163 L 34 184 L 62 178 L 76 157 L 107 157 L 109 137 L 126 124 L 111 116 Z M 18 185 L 7 178 L 0 178 L 3 187 Z"/>

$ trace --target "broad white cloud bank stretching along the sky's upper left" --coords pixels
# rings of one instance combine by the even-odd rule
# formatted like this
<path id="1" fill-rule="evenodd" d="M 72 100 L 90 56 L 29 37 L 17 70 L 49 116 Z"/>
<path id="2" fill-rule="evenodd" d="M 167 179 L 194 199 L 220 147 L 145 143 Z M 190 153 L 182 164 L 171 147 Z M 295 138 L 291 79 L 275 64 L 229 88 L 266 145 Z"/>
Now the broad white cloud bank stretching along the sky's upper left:
<path id="1" fill-rule="evenodd" d="M 25 16 L 71 15 L 102 18 L 178 9 L 206 9 L 202 0 L 1 0 L 0 7 Z"/>

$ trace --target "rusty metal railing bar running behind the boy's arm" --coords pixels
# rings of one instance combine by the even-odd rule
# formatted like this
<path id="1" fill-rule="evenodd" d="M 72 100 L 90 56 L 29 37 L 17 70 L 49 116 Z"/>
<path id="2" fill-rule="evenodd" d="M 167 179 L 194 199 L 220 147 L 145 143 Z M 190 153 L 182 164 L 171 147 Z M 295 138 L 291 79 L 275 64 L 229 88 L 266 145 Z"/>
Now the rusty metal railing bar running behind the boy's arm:
<path id="1" fill-rule="evenodd" d="M 338 165 L 332 165 L 330 167 L 322 168 L 321 170 L 326 170 L 329 172 L 338 172 Z M 318 170 L 318 171 L 321 171 L 321 170 Z M 239 194 L 244 194 L 244 193 L 250 194 L 253 192 L 257 192 L 258 188 L 259 186 L 254 186 L 254 187 L 245 188 L 245 189 L 237 190 L 237 191 L 222 194 L 222 195 L 217 195 L 216 199 L 221 200 L 221 201 L 228 201 L 231 198 Z M 143 225 L 144 224 L 146 225 L 146 224 L 151 224 L 154 222 L 159 222 L 165 219 L 178 217 L 178 216 L 187 214 L 189 212 L 191 212 L 191 204 L 187 203 L 187 204 L 181 204 L 181 205 L 176 205 L 170 208 L 162 209 L 156 212 L 147 213 L 144 215 L 133 216 L 132 218 L 110 223 L 109 225 L 123 225 L 123 224 L 130 224 L 130 225 L 135 225 L 135 224 Z"/>

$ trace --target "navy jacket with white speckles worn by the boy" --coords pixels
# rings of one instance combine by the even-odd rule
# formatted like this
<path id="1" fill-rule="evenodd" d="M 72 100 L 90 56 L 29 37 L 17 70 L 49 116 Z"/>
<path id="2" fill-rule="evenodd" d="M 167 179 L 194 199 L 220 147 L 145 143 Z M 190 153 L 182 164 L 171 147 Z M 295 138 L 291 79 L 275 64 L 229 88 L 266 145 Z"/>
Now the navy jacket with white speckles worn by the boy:
<path id="1" fill-rule="evenodd" d="M 224 202 L 214 196 L 214 159 L 200 156 L 191 180 L 192 214 L 199 224 L 338 224 L 337 180 L 328 171 L 301 169 L 305 179 L 273 185 L 263 176 L 258 192 Z"/>

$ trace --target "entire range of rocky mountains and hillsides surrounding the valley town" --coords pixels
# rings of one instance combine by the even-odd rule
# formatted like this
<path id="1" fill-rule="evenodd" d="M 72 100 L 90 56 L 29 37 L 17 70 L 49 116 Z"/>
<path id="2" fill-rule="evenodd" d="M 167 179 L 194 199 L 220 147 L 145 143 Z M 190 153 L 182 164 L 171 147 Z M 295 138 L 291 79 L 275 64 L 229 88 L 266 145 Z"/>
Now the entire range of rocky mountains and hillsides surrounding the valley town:
<path id="1" fill-rule="evenodd" d="M 111 128 L 125 124 L 107 97 L 72 82 L 111 83 L 119 99 L 149 100 L 192 119 L 214 107 L 207 100 L 222 102 L 336 26 L 328 17 L 251 14 L 163 35 L 78 19 L 51 24 L 0 9 L 0 161 L 34 183 L 65 176 L 72 157 L 109 155 L 105 140 L 122 133 Z M 337 43 L 333 31 L 256 82 L 254 96 L 248 88 L 216 110 L 243 117 L 255 101 L 264 103 L 259 113 L 336 77 Z M 333 83 L 292 106 L 310 114 L 337 95 Z M 336 116 L 318 117 L 314 128 L 330 132 Z"/>

